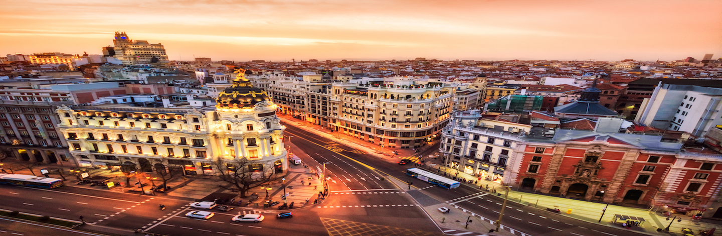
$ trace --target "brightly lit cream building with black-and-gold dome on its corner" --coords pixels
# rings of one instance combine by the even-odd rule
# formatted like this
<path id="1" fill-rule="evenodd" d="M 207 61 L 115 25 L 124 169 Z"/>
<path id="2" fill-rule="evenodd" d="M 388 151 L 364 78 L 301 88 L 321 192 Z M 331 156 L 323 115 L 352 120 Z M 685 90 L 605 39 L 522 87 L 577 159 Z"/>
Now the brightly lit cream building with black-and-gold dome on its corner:
<path id="1" fill-rule="evenodd" d="M 182 165 L 186 174 L 210 175 L 221 171 L 214 170 L 216 160 L 248 158 L 249 171 L 281 173 L 287 150 L 276 105 L 243 75 L 219 94 L 215 107 L 61 106 L 58 127 L 84 167 L 120 169 L 125 163 L 151 172 Z"/>

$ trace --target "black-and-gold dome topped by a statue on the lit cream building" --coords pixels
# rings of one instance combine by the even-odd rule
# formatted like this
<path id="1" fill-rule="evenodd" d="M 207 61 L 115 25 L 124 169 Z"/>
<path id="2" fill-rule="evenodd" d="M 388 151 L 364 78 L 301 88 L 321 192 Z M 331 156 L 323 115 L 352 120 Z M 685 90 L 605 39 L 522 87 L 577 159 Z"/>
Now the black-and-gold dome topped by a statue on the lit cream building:
<path id="1" fill-rule="evenodd" d="M 254 88 L 251 81 L 245 78 L 245 70 L 238 69 L 233 85 L 224 89 L 216 99 L 216 108 L 253 107 L 261 101 L 269 101 L 266 91 Z"/>

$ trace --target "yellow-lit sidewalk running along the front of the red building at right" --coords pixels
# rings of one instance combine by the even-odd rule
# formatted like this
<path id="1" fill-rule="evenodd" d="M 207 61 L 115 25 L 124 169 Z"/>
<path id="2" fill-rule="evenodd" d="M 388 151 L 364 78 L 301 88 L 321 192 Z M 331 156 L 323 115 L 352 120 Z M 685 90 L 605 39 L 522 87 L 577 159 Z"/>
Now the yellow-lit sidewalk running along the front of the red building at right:
<path id="1" fill-rule="evenodd" d="M 438 160 L 427 160 L 430 160 L 430 162 L 425 163 L 422 168 L 425 168 L 427 170 L 433 170 L 432 172 L 440 171 L 441 175 L 450 176 L 450 178 L 456 176 L 457 173 L 455 169 L 443 168 L 443 164 L 437 163 Z M 430 166 L 429 164 L 432 163 L 436 165 Z M 439 170 L 440 166 L 442 168 L 440 168 Z M 458 178 L 477 180 L 477 177 L 471 176 L 464 172 L 458 172 Z M 469 183 L 462 184 L 465 184 L 467 186 L 473 186 L 474 188 L 479 188 L 479 186 L 483 186 L 485 188 L 488 185 L 490 189 L 490 194 L 495 193 L 494 195 L 500 198 L 503 198 L 505 195 L 505 191 L 503 191 L 504 187 L 500 183 L 496 183 L 494 181 L 486 181 L 483 178 L 481 181 L 478 181 L 476 185 Z M 667 217 L 661 215 L 661 212 L 650 212 L 649 209 L 622 207 L 614 204 L 609 204 L 609 206 L 606 207 L 606 212 L 604 212 L 604 217 L 602 217 L 602 209 L 604 209 L 606 204 L 562 198 L 559 196 L 532 194 L 515 190 L 511 190 L 509 192 L 509 201 L 516 201 L 520 204 L 525 204 L 529 207 L 536 207 L 539 209 L 560 209 L 562 211 L 561 214 L 566 217 L 580 219 L 595 224 L 601 224 L 608 227 L 622 227 L 620 224 L 615 224 L 612 222 L 612 220 L 614 219 L 614 214 L 627 215 L 632 217 L 643 217 L 645 219 L 645 222 L 639 227 L 632 227 L 631 230 L 645 233 L 648 235 L 668 235 L 667 232 L 658 232 L 657 229 L 666 228 L 670 222 L 671 226 L 669 227 L 669 232 L 671 233 L 681 233 L 682 227 L 690 228 L 693 232 L 696 233 L 698 232 L 698 230 L 710 230 L 713 227 L 720 227 L 722 225 L 722 222 L 710 219 L 692 220 L 692 217 L 682 214 L 672 214 L 670 218 L 674 218 L 676 216 L 677 219 L 679 219 L 680 217 L 682 217 L 682 222 L 677 222 L 676 220 L 672 222 L 672 219 L 666 220 Z M 570 212 L 567 213 L 567 211 Z M 715 235 L 722 235 L 722 233 L 716 232 Z"/>

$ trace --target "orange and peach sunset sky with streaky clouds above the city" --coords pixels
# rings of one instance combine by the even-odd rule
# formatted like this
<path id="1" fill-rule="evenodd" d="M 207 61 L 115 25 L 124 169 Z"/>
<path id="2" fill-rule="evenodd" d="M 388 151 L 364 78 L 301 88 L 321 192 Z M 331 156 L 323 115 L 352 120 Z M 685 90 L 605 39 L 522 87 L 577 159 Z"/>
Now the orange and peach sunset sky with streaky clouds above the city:
<path id="1" fill-rule="evenodd" d="M 113 32 L 170 60 L 722 57 L 722 1 L 0 0 L 0 55 L 102 54 Z"/>

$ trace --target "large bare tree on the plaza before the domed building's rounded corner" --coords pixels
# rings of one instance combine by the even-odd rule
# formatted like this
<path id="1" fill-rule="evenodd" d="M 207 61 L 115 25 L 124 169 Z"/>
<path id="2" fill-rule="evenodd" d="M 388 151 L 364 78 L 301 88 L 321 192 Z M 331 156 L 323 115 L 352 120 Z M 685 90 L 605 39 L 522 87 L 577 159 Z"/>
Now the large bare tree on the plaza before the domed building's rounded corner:
<path id="1" fill-rule="evenodd" d="M 264 185 L 268 181 L 277 179 L 274 173 L 273 165 L 260 165 L 260 162 L 248 160 L 246 158 L 236 160 L 216 160 L 213 165 L 218 170 L 217 176 L 223 183 L 220 186 L 240 193 L 241 198 L 245 198 L 245 193 L 249 189 Z M 249 166 L 250 165 L 250 166 Z M 253 167 L 261 167 L 259 170 L 251 169 Z"/>

